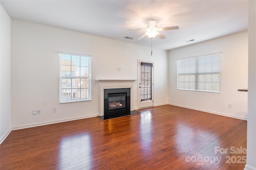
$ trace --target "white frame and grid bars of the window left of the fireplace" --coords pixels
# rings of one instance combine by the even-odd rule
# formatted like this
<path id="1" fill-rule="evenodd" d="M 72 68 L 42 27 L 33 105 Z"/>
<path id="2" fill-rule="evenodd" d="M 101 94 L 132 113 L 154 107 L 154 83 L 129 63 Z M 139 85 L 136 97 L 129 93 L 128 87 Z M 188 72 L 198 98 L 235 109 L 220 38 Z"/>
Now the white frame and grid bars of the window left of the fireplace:
<path id="1" fill-rule="evenodd" d="M 77 53 L 67 53 L 67 52 L 59 52 L 58 53 L 59 54 L 59 102 L 60 103 L 71 103 L 71 102 L 79 102 L 79 101 L 91 101 L 92 100 L 92 89 L 91 89 L 91 84 L 92 84 L 92 76 L 91 76 L 91 72 L 92 72 L 92 60 L 91 60 L 91 55 L 89 55 L 89 54 L 77 54 Z M 62 70 L 62 56 L 63 55 L 70 55 L 70 71 L 63 71 Z M 79 71 L 78 71 L 78 73 L 79 73 L 79 76 L 76 76 L 75 75 L 75 73 L 72 73 L 72 65 L 74 64 L 74 63 L 72 63 L 72 62 L 74 62 L 74 60 L 72 60 L 72 56 L 73 57 L 80 57 L 80 61 L 79 61 L 79 67 L 78 67 L 78 69 L 79 69 Z M 86 65 L 86 67 L 88 68 L 88 76 L 81 76 L 81 67 L 83 67 L 83 66 L 81 66 L 82 64 L 81 64 L 81 57 L 82 58 L 84 58 L 84 59 L 86 59 L 86 60 L 88 60 L 88 65 Z M 66 60 L 66 61 L 68 61 L 68 60 Z M 78 65 L 76 65 L 75 67 L 77 67 Z M 68 73 L 66 73 L 66 72 L 68 72 Z M 63 75 L 62 75 L 63 74 Z M 70 89 L 71 90 L 71 93 L 70 94 L 68 94 L 68 95 L 70 95 L 70 98 L 71 99 L 63 99 L 63 94 L 62 94 L 62 89 L 64 89 L 63 87 L 62 87 L 62 79 L 71 79 L 71 81 L 70 81 L 70 83 L 71 83 L 71 85 L 70 85 L 70 88 L 66 88 L 66 89 Z M 80 79 L 80 85 L 81 85 L 81 79 L 88 79 L 88 88 L 87 87 L 80 87 L 80 88 L 78 88 L 78 87 L 72 87 L 72 79 L 74 79 L 74 81 L 76 81 L 75 79 Z M 86 97 L 86 98 L 83 98 L 83 99 L 74 99 L 73 97 L 72 97 L 72 95 L 73 95 L 73 93 L 75 93 L 75 92 L 72 92 L 72 89 L 80 89 L 80 91 L 79 91 L 79 95 L 80 95 L 80 97 L 81 97 L 81 89 L 88 89 L 88 97 Z"/>

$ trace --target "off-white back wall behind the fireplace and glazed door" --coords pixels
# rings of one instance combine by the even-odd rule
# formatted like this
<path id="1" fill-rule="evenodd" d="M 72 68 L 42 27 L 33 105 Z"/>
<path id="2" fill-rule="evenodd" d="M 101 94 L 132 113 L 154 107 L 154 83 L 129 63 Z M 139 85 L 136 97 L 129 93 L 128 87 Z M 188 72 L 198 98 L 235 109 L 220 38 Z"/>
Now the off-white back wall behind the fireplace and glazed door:
<path id="1" fill-rule="evenodd" d="M 96 79 L 137 79 L 138 59 L 154 62 L 154 105 L 168 103 L 167 51 L 49 26 L 12 20 L 12 127 L 98 115 Z M 132 41 L 132 40 L 131 40 Z M 149 39 L 150 41 L 150 39 Z M 59 103 L 58 51 L 92 55 L 92 101 Z M 118 60 L 118 64 L 117 61 Z M 116 71 L 121 67 L 122 71 Z M 134 108 L 138 107 L 137 85 Z M 52 113 L 52 108 L 57 113 Z M 32 110 L 41 109 L 41 115 Z"/>

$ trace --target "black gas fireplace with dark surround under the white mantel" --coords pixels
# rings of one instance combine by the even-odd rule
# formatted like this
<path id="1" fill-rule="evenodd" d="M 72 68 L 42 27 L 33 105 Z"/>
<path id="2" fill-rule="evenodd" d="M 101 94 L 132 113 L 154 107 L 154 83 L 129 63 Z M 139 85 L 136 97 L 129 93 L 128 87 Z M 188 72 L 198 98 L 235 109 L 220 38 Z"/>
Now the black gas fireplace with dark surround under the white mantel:
<path id="1" fill-rule="evenodd" d="M 104 89 L 104 120 L 130 115 L 130 88 Z"/>

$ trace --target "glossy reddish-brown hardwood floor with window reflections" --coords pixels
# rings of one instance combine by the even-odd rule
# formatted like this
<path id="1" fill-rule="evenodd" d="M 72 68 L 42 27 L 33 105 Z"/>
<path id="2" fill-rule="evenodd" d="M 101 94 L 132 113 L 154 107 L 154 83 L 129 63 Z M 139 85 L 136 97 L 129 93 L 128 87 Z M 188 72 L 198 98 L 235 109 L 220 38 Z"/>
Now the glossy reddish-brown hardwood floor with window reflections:
<path id="1" fill-rule="evenodd" d="M 246 148 L 246 121 L 172 105 L 139 111 L 13 130 L 0 145 L 0 169 L 244 168 L 246 154 L 230 147 Z"/>

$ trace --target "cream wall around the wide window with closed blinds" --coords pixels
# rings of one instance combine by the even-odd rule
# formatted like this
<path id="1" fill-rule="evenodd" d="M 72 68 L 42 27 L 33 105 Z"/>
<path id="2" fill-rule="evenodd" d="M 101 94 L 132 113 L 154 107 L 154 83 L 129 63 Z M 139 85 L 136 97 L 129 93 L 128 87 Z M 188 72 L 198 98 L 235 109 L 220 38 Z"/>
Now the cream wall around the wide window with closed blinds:
<path id="1" fill-rule="evenodd" d="M 220 115 L 247 119 L 248 32 L 168 51 L 169 103 Z M 177 90 L 176 59 L 221 52 L 221 93 Z M 232 108 L 228 108 L 228 103 Z"/>

